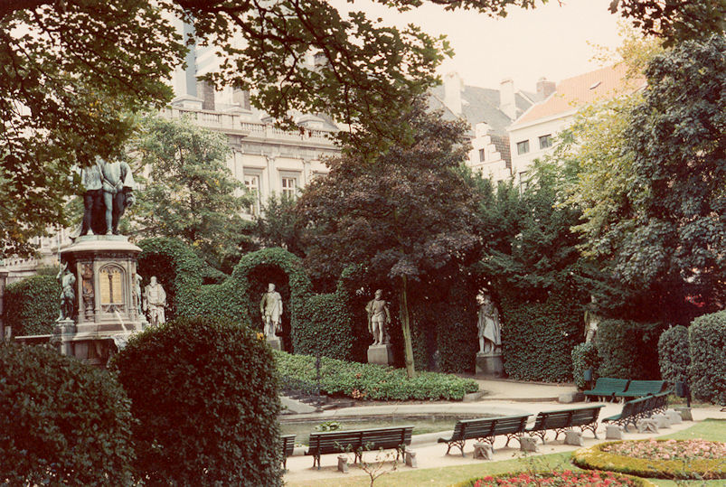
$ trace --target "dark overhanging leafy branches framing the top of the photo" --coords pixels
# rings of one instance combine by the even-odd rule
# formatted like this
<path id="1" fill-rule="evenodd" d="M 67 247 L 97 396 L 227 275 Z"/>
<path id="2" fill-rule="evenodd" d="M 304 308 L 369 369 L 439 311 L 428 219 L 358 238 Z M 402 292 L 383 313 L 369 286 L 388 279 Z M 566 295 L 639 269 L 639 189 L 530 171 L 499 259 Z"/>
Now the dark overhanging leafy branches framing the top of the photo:
<path id="1" fill-rule="evenodd" d="M 506 15 L 536 0 L 377 0 L 408 10 L 424 3 Z M 542 4 L 547 0 L 542 0 Z M 722 32 L 721 0 L 615 0 L 648 33 L 666 39 Z M 66 225 L 61 204 L 78 192 L 72 164 L 118 153 L 130 133 L 121 113 L 163 105 L 164 80 L 184 61 L 181 36 L 165 20 L 193 24 L 196 42 L 225 59 L 207 80 L 250 89 L 252 103 L 292 126 L 296 110 L 324 112 L 352 129 L 339 137 L 372 156 L 411 142 L 397 123 L 408 100 L 437 82 L 450 55 L 442 37 L 368 19 L 344 18 L 319 0 L 20 0 L 0 4 L 0 252 L 28 254 L 49 224 Z M 191 42 L 194 42 L 193 40 Z M 303 62 L 316 53 L 316 67 Z M 361 138 L 369 136 L 363 144 Z M 48 191 L 50 190 L 50 191 Z"/>

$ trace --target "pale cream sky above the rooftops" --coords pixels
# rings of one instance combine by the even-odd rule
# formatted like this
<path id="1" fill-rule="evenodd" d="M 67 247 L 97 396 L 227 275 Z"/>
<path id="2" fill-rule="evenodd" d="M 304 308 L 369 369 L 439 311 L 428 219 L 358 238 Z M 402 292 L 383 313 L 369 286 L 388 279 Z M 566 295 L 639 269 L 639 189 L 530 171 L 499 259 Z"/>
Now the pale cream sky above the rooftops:
<path id="1" fill-rule="evenodd" d="M 610 14 L 610 0 L 550 0 L 533 10 L 512 7 L 505 18 L 473 11 L 445 12 L 427 4 L 400 14 L 370 0 L 329 0 L 342 12 L 362 10 L 369 17 L 403 27 L 419 25 L 431 35 L 446 34 L 454 58 L 444 61 L 443 75 L 457 71 L 467 85 L 496 88 L 504 78 L 515 89 L 534 91 L 542 77 L 555 82 L 601 66 L 592 61 L 597 50 L 591 44 L 615 48 L 618 14 Z M 589 43 L 588 43 L 589 42 Z"/>

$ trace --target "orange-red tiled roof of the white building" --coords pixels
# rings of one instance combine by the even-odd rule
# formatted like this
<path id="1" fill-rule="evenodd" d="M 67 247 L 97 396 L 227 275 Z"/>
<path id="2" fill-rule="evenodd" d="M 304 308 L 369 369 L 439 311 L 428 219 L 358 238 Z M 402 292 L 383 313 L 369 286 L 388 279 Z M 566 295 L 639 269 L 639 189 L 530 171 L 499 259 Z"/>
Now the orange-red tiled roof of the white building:
<path id="1" fill-rule="evenodd" d="M 537 103 L 517 118 L 512 126 L 521 126 L 540 118 L 555 117 L 598 100 L 632 93 L 646 84 L 643 77 L 627 78 L 624 62 L 580 74 L 557 85 L 550 98 Z"/>

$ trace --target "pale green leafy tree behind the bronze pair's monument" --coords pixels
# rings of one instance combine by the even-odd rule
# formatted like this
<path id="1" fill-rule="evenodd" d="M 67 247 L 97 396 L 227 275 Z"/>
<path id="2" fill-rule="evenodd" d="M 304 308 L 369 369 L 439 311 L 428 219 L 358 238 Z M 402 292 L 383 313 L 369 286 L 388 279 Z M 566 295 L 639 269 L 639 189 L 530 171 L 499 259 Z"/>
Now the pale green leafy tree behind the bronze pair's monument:
<path id="1" fill-rule="evenodd" d="M 251 247 L 249 198 L 227 167 L 227 137 L 187 118 L 146 117 L 130 149 L 147 173 L 130 214 L 144 236 L 176 237 L 212 267 L 231 270 Z"/>

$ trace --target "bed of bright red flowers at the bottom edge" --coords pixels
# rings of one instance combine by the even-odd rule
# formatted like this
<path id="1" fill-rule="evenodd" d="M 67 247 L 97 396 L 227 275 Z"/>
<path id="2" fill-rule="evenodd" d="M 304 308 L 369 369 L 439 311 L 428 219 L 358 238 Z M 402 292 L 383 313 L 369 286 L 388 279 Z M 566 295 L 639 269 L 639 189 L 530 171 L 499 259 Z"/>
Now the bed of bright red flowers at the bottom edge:
<path id="1" fill-rule="evenodd" d="M 530 486 L 547 486 L 560 487 L 572 485 L 588 485 L 591 487 L 655 487 L 655 484 L 645 479 L 638 479 L 623 475 L 622 473 L 612 472 L 571 472 L 565 470 L 563 472 L 523 472 L 523 473 L 503 473 L 500 475 L 488 475 L 477 479 L 471 479 L 466 482 L 460 482 L 452 487 L 530 487 Z"/>

